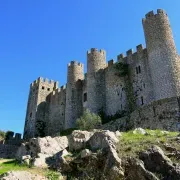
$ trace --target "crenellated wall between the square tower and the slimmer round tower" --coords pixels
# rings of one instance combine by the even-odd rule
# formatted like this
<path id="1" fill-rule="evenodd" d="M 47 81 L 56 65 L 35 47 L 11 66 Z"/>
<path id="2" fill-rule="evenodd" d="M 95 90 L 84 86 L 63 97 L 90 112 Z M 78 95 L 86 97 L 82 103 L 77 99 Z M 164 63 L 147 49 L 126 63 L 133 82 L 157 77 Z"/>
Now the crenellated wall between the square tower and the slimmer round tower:
<path id="1" fill-rule="evenodd" d="M 64 129 L 66 88 L 62 86 L 49 95 L 49 113 L 47 118 L 47 135 L 59 134 Z"/>

